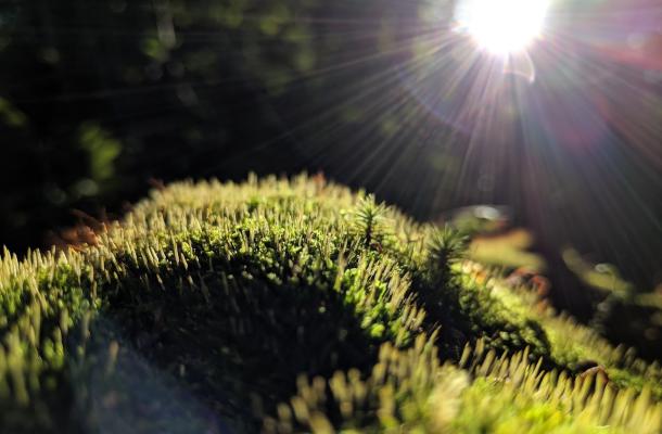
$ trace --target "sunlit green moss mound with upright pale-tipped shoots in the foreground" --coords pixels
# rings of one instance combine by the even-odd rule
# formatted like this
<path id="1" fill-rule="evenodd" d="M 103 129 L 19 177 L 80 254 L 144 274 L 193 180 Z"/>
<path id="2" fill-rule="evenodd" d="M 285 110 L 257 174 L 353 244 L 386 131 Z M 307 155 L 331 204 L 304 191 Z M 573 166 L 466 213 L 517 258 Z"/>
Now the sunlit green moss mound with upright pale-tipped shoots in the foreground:
<path id="1" fill-rule="evenodd" d="M 0 263 L 1 432 L 636 432 L 658 365 L 320 178 L 177 183 Z"/>

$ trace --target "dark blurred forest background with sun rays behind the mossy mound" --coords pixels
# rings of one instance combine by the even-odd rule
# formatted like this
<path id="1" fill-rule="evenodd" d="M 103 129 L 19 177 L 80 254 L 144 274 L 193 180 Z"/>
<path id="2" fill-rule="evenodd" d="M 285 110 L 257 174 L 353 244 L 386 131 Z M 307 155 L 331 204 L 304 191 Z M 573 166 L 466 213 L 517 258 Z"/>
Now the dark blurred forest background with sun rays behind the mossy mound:
<path id="1" fill-rule="evenodd" d="M 660 343 L 661 3 L 552 1 L 508 61 L 456 3 L 1 0 L 0 244 L 76 242 L 171 180 L 323 173 Z"/>

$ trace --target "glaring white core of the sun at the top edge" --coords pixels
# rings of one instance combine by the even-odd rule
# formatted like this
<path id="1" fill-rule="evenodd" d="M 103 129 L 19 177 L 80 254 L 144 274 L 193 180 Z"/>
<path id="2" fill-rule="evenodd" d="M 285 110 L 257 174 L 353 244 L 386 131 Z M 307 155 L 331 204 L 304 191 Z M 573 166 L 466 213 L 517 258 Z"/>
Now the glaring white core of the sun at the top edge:
<path id="1" fill-rule="evenodd" d="M 508 55 L 540 36 L 548 7 L 549 0 L 464 0 L 456 17 L 479 46 Z"/>

